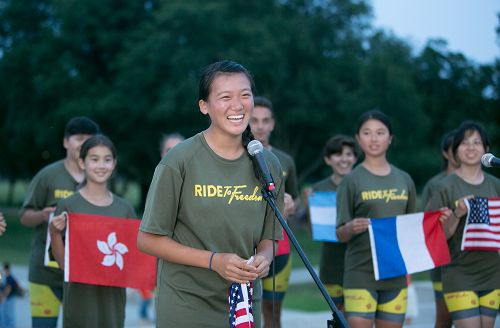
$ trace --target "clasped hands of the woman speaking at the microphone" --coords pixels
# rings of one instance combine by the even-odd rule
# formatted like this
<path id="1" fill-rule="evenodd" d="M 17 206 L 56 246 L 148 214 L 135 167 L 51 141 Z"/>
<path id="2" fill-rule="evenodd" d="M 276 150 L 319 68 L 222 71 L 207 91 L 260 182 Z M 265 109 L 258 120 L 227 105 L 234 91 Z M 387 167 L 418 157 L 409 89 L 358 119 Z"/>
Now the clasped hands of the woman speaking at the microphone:
<path id="1" fill-rule="evenodd" d="M 254 261 L 261 261 L 261 257 L 256 255 Z M 254 262 L 255 264 L 256 262 Z M 236 254 L 232 253 L 215 253 L 212 257 L 212 270 L 217 272 L 222 278 L 245 284 L 251 280 L 259 277 L 258 267 L 254 264 L 247 264 L 247 260 L 242 259 Z M 267 264 L 269 270 L 269 263 Z M 260 267 L 260 265 L 259 265 Z M 263 270 L 263 269 L 261 269 Z"/>

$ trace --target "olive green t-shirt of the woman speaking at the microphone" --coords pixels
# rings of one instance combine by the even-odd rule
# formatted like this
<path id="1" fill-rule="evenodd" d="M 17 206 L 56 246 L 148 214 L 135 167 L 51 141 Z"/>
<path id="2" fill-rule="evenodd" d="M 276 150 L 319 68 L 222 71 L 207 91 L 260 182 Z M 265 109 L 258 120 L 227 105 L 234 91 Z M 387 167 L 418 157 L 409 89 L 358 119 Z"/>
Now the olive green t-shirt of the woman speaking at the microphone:
<path id="1" fill-rule="evenodd" d="M 278 207 L 283 187 L 278 159 L 264 156 L 274 177 Z M 249 155 L 227 160 L 202 133 L 173 148 L 156 167 L 140 230 L 180 244 L 250 258 L 260 241 L 281 239 L 274 214 L 260 192 Z M 208 266 L 208 262 L 207 262 Z M 160 259 L 157 275 L 158 327 L 225 327 L 230 282 L 208 268 Z M 254 281 L 253 315 L 260 327 L 260 280 Z"/>

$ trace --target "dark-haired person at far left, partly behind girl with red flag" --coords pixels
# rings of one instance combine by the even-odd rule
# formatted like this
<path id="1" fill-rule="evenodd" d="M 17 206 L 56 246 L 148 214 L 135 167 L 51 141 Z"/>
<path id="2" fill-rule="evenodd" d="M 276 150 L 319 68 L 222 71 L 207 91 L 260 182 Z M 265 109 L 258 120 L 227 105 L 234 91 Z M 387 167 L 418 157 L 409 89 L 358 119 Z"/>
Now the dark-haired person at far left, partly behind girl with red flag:
<path id="1" fill-rule="evenodd" d="M 78 165 L 80 147 L 100 132 L 90 118 L 70 119 L 64 129 L 66 157 L 41 169 L 31 180 L 21 209 L 21 223 L 33 228 L 29 263 L 29 296 L 32 326 L 56 327 L 63 297 L 63 271 L 57 263 L 45 265 L 49 218 L 57 202 L 71 196 L 84 179 Z"/>

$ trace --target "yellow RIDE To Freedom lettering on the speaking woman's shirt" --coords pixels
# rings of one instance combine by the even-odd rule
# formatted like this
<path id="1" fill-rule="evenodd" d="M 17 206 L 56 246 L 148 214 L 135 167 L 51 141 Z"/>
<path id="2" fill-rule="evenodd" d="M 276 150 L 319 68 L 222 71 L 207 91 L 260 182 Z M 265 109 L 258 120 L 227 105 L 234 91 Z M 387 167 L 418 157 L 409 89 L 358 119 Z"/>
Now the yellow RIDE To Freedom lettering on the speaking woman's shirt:
<path id="1" fill-rule="evenodd" d="M 221 186 L 221 185 L 194 185 L 194 197 L 217 197 L 227 198 L 228 204 L 233 200 L 244 202 L 260 202 L 262 195 L 257 195 L 259 187 L 255 187 L 252 194 L 245 193 L 247 185 L 240 186 Z"/>

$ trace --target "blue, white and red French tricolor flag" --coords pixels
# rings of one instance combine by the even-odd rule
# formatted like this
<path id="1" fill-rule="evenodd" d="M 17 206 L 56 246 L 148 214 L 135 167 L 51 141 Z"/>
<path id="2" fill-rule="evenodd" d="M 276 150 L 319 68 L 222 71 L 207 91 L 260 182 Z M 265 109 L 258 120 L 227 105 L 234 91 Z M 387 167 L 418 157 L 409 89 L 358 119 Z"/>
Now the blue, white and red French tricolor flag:
<path id="1" fill-rule="evenodd" d="M 375 280 L 426 271 L 450 263 L 440 211 L 370 219 Z"/>

